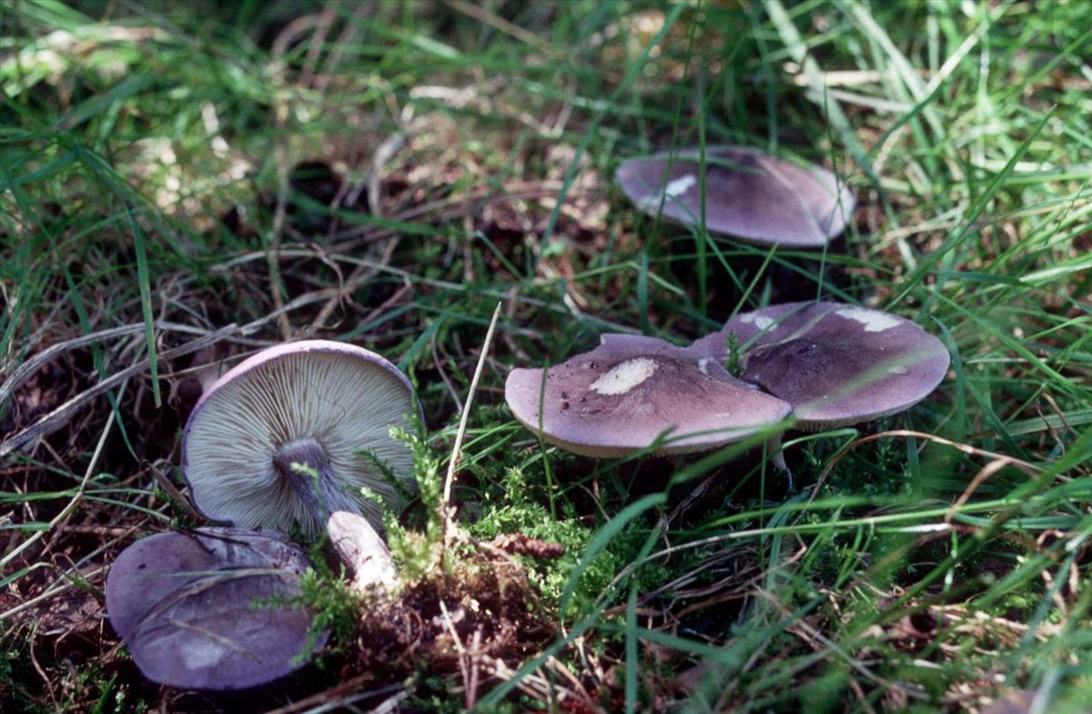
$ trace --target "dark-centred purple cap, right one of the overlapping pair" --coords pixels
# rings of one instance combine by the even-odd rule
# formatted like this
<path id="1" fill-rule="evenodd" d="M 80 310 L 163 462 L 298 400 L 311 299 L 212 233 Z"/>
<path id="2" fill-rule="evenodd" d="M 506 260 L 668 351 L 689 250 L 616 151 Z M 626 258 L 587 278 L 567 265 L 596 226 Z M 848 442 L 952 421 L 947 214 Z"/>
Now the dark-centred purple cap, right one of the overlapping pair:
<path id="1" fill-rule="evenodd" d="M 740 378 L 793 406 L 805 429 L 854 424 L 900 412 L 948 372 L 948 350 L 910 320 L 834 302 L 772 305 L 729 319 L 691 346 L 724 360 L 740 347 Z"/>

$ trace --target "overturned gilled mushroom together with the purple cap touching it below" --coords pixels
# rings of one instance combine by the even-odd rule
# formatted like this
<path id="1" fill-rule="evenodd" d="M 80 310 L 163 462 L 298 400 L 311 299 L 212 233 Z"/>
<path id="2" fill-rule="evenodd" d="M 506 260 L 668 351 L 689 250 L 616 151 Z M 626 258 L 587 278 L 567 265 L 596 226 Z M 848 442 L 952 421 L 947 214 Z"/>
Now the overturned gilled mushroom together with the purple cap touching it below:
<path id="1" fill-rule="evenodd" d="M 420 406 L 382 356 L 327 340 L 240 362 L 201 397 L 182 433 L 182 472 L 207 527 L 157 534 L 115 561 L 106 609 L 149 679 L 237 690 L 283 677 L 325 643 L 296 607 L 307 553 L 284 534 L 323 530 L 359 589 L 395 582 L 377 528 L 412 481 L 390 435 Z"/>

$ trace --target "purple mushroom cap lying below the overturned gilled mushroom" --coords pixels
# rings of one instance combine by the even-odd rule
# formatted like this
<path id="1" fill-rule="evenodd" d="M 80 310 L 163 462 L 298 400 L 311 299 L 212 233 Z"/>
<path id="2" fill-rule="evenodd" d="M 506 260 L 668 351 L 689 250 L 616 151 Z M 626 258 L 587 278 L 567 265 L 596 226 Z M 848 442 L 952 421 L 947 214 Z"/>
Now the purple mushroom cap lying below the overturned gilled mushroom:
<path id="1" fill-rule="evenodd" d="M 149 679 L 186 689 L 257 687 L 301 667 L 312 613 L 300 595 L 307 555 L 283 536 L 238 528 L 138 540 L 106 578 L 106 610 Z M 261 604 L 257 606 L 256 604 Z"/>

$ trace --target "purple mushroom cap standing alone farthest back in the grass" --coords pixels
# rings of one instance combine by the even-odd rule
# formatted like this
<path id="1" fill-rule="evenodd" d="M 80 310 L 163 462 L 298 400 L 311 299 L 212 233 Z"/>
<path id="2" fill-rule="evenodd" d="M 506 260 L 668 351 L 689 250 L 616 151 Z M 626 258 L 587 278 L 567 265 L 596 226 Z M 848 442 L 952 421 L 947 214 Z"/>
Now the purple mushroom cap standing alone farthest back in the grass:
<path id="1" fill-rule="evenodd" d="M 669 166 L 669 168 L 668 168 Z M 687 149 L 622 162 L 621 190 L 649 215 L 697 225 L 700 151 Z M 831 172 L 745 147 L 705 148 L 705 226 L 756 245 L 819 248 L 840 235 L 856 201 Z"/>

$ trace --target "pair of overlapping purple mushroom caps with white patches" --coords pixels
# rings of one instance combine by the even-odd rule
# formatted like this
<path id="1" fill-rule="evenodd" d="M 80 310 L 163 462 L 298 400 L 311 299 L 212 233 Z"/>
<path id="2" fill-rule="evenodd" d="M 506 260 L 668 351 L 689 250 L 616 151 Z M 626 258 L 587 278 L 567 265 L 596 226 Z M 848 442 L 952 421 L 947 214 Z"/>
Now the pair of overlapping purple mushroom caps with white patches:
<path id="1" fill-rule="evenodd" d="M 728 335 L 741 346 L 738 377 L 724 367 Z M 924 399 L 948 371 L 947 350 L 913 323 L 832 302 L 743 313 L 685 348 L 600 339 L 549 370 L 513 370 L 505 385 L 521 423 L 584 456 L 716 448 L 791 414 L 810 430 L 886 417 Z"/>

